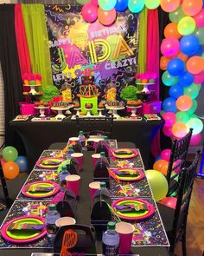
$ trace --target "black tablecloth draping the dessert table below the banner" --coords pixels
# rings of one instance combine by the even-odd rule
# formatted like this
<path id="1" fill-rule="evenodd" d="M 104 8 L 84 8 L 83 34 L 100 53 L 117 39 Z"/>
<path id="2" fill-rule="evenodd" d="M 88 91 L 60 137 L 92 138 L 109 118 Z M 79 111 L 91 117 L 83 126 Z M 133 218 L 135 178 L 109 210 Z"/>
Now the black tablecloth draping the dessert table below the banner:
<path id="1" fill-rule="evenodd" d="M 163 126 L 161 121 L 114 121 L 112 139 L 117 141 L 132 141 L 140 149 L 144 167 L 152 167 L 150 162 L 150 144 L 158 130 Z M 10 121 L 22 137 L 26 154 L 29 158 L 29 168 L 35 165 L 42 150 L 48 148 L 54 141 L 68 141 L 69 137 L 78 134 L 76 122 L 64 121 Z M 92 121 L 94 129 L 94 121 Z"/>

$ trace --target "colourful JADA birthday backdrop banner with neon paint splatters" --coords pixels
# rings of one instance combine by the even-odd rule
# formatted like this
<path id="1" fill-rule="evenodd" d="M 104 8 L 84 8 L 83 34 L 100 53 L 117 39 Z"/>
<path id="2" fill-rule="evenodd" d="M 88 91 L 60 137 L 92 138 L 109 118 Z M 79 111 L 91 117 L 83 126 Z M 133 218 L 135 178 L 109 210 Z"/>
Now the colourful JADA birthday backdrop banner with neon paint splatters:
<path id="1" fill-rule="evenodd" d="M 138 16 L 126 10 L 117 14 L 111 26 L 104 26 L 98 20 L 86 23 L 81 8 L 45 6 L 54 85 L 61 89 L 67 82 L 76 95 L 83 84 L 81 76 L 94 75 L 102 95 L 110 82 L 119 95 L 126 84 L 135 84 Z"/>

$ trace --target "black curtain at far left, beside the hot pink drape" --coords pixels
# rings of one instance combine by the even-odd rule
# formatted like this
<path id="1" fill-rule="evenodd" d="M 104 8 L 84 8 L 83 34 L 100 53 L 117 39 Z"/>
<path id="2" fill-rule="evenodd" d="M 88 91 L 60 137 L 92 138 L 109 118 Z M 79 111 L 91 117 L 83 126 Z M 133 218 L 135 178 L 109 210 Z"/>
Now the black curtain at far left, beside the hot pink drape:
<path id="1" fill-rule="evenodd" d="M 4 83 L 5 145 L 22 154 L 20 137 L 10 128 L 10 120 L 19 114 L 22 102 L 22 78 L 18 62 L 15 33 L 15 4 L 0 4 L 0 61 Z"/>

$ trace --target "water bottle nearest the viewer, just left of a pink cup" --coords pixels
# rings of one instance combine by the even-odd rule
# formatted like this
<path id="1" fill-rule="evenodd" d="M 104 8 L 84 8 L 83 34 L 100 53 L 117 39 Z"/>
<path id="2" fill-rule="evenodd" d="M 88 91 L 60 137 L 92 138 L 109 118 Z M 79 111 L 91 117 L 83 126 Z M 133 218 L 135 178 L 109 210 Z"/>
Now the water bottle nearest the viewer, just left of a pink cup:
<path id="1" fill-rule="evenodd" d="M 108 222 L 107 230 L 103 233 L 103 255 L 116 256 L 118 255 L 119 235 L 115 230 L 116 223 Z"/>

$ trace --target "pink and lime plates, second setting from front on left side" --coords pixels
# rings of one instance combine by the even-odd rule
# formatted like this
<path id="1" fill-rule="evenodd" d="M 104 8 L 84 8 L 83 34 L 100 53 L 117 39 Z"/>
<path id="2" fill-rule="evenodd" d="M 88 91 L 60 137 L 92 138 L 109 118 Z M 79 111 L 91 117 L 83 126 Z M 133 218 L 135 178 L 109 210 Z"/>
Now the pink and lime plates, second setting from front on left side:
<path id="1" fill-rule="evenodd" d="M 27 189 L 30 186 L 39 187 L 41 185 L 44 185 L 43 187 L 54 187 L 54 189 L 51 191 L 45 192 L 44 194 L 42 193 L 31 194 L 29 193 L 29 191 L 27 191 Z M 54 194 L 57 194 L 60 191 L 60 189 L 61 189 L 60 185 L 53 181 L 35 181 L 35 182 L 28 183 L 24 187 L 22 187 L 22 194 L 24 194 L 26 197 L 29 197 L 29 198 L 47 198 Z"/>

